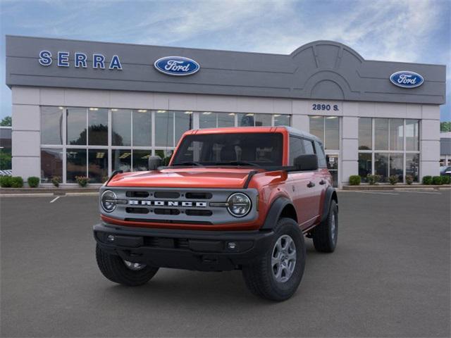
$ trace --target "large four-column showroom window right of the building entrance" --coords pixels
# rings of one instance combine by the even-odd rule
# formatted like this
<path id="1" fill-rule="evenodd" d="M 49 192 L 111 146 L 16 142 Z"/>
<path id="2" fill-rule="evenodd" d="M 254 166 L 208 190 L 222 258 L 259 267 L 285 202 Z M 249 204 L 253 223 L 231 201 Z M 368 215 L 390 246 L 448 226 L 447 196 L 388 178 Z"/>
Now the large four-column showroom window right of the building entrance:
<path id="1" fill-rule="evenodd" d="M 359 175 L 369 174 L 382 182 L 395 175 L 419 180 L 419 120 L 399 118 L 359 118 Z"/>

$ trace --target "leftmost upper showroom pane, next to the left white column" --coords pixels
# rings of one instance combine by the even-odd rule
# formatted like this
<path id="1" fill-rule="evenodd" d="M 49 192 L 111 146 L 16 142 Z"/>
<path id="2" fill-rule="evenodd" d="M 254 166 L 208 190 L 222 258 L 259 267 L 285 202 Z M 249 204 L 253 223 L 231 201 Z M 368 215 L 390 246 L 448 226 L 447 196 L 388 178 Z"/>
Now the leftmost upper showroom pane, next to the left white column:
<path id="1" fill-rule="evenodd" d="M 63 107 L 41 107 L 41 144 L 63 144 Z"/>

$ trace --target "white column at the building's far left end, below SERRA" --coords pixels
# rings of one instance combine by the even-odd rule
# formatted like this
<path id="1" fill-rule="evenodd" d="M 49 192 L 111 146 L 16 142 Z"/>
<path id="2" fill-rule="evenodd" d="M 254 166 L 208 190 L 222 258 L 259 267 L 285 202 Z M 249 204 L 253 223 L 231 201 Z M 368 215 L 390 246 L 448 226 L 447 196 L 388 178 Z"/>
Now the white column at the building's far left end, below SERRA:
<path id="1" fill-rule="evenodd" d="M 41 177 L 39 89 L 13 87 L 13 176 Z"/>

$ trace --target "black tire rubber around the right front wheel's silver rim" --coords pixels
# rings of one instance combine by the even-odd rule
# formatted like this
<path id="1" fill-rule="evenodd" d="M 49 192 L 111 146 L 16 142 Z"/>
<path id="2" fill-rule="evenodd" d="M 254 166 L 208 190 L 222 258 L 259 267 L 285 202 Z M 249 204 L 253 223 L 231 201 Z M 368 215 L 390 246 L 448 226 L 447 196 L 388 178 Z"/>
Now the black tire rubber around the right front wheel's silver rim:
<path id="1" fill-rule="evenodd" d="M 279 282 L 273 273 L 271 258 L 278 239 L 288 235 L 295 244 L 296 262 L 292 275 L 285 282 Z M 305 268 L 306 250 L 304 235 L 295 220 L 281 218 L 276 226 L 276 232 L 267 251 L 251 265 L 242 267 L 242 275 L 245 278 L 248 289 L 257 296 L 271 299 L 272 301 L 285 301 L 289 299 L 299 287 Z"/>

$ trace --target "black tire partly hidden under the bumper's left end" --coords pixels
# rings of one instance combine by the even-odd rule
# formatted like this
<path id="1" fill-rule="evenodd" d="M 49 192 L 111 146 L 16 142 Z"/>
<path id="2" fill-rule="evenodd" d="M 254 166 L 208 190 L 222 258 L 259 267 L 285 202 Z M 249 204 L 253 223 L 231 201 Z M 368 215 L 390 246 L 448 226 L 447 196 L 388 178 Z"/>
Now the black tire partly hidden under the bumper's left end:
<path id="1" fill-rule="evenodd" d="M 111 282 L 127 285 L 128 287 L 146 284 L 159 269 L 145 266 L 141 270 L 131 270 L 127 268 L 121 257 L 102 251 L 99 245 L 96 246 L 96 258 L 97 265 L 106 278 L 111 280 Z"/>

